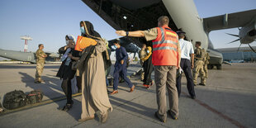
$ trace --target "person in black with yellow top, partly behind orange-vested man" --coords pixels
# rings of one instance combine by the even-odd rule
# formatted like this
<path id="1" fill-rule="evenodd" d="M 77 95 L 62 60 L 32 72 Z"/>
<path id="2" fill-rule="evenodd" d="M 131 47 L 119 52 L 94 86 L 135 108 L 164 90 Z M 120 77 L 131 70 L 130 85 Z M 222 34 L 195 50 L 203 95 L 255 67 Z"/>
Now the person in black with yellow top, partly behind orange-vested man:
<path id="1" fill-rule="evenodd" d="M 147 46 L 146 52 L 147 52 L 147 55 L 141 59 L 144 61 L 143 69 L 145 71 L 143 86 L 145 86 L 145 88 L 150 88 L 150 86 L 153 85 L 153 80 L 151 79 L 151 73 L 153 72 L 152 48 L 150 46 Z"/>

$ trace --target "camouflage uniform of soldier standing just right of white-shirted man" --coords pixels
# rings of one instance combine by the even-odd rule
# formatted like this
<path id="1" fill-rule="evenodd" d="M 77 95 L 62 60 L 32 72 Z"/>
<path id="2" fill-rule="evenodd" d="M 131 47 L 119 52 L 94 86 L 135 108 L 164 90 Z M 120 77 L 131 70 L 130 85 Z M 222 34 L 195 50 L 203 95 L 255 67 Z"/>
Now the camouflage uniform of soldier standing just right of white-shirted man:
<path id="1" fill-rule="evenodd" d="M 195 50 L 195 69 L 193 71 L 193 81 L 194 84 L 197 85 L 197 77 L 198 77 L 198 73 L 200 73 L 200 77 L 201 77 L 201 84 L 206 85 L 206 76 L 205 76 L 205 72 L 203 69 L 204 66 L 204 58 L 202 58 L 202 49 L 201 47 L 197 48 Z"/>

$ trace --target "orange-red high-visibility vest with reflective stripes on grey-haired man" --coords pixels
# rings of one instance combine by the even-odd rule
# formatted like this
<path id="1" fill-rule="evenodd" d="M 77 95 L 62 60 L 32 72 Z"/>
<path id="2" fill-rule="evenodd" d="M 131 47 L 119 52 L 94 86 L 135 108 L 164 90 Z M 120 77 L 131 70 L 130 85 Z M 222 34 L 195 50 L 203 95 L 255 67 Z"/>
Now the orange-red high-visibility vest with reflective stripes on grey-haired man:
<path id="1" fill-rule="evenodd" d="M 152 64 L 178 66 L 178 35 L 168 26 L 157 27 L 153 42 Z"/>

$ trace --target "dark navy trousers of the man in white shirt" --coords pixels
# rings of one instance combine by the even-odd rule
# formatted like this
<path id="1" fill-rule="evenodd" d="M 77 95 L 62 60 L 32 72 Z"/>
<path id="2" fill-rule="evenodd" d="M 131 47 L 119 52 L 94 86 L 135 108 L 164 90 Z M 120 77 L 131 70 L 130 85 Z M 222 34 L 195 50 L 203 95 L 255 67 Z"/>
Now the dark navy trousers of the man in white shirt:
<path id="1" fill-rule="evenodd" d="M 193 83 L 193 78 L 192 78 L 192 73 L 191 73 L 191 64 L 189 59 L 181 59 L 180 63 L 181 68 L 183 69 L 185 76 L 187 78 L 187 90 L 190 94 L 190 96 L 196 96 L 195 90 L 194 90 L 194 83 Z M 181 84 L 182 84 L 182 75 L 179 75 L 178 78 L 176 79 L 176 87 L 178 90 L 178 97 L 181 93 Z"/>

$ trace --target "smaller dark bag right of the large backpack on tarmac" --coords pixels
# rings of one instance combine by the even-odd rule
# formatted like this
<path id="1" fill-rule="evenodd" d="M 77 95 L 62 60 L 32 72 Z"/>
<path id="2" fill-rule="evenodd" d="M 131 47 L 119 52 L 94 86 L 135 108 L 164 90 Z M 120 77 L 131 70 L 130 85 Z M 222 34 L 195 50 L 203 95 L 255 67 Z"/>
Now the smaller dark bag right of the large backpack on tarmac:
<path id="1" fill-rule="evenodd" d="M 43 99 L 43 92 L 39 90 L 31 91 L 26 97 L 29 104 L 41 102 Z"/>

